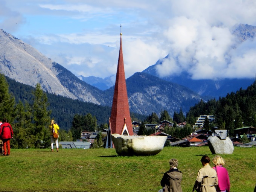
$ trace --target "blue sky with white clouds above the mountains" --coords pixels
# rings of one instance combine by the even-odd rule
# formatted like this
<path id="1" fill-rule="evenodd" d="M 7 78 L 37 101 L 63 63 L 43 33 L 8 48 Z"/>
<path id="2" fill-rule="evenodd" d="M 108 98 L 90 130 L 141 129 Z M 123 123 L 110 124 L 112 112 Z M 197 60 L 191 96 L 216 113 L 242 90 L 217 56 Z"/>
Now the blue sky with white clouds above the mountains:
<path id="1" fill-rule="evenodd" d="M 256 39 L 238 42 L 239 23 L 256 26 L 256 1 L 0 0 L 0 28 L 76 76 L 116 73 L 122 24 L 126 78 L 168 54 L 159 76 L 253 78 Z"/>

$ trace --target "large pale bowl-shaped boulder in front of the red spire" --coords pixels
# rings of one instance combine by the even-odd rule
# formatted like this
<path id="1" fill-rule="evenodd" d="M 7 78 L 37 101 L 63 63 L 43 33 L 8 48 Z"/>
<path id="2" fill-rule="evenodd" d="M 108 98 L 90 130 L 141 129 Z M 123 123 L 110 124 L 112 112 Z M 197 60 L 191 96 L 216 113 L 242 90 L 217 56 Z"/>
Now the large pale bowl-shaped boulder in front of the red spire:
<path id="1" fill-rule="evenodd" d="M 155 155 L 162 151 L 167 136 L 123 136 L 111 134 L 118 155 Z"/>

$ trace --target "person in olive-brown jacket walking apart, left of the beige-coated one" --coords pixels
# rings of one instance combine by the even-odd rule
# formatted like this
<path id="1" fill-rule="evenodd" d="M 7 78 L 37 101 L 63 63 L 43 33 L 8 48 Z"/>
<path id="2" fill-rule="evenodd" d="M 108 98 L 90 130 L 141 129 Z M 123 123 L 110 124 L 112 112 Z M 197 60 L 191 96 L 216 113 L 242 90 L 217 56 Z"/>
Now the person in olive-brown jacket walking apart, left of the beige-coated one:
<path id="1" fill-rule="evenodd" d="M 163 192 L 182 192 L 181 189 L 181 180 L 182 180 L 182 172 L 177 169 L 178 160 L 172 158 L 169 160 L 169 164 L 171 168 L 169 171 L 165 172 L 163 178 L 161 180 L 161 186 L 164 187 L 162 189 Z"/>

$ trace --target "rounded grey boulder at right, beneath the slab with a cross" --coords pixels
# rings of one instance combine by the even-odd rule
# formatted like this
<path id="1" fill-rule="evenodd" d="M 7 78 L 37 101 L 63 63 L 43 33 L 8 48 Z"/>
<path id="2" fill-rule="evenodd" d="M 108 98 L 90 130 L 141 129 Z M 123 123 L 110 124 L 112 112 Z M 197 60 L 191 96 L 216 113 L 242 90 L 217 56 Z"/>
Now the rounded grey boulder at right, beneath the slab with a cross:
<path id="1" fill-rule="evenodd" d="M 212 154 L 232 154 L 234 146 L 229 137 L 226 139 L 220 139 L 216 136 L 208 137 L 208 146 Z"/>

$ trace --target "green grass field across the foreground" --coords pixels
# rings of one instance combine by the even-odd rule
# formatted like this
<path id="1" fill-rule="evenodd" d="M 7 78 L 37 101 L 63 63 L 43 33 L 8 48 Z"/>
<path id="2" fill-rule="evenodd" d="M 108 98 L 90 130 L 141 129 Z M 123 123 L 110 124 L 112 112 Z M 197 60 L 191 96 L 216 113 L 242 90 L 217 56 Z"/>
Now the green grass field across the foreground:
<path id="1" fill-rule="evenodd" d="M 0 156 L 0 191 L 157 192 L 169 159 L 177 158 L 183 192 L 191 192 L 202 155 L 214 157 L 207 146 L 168 147 L 142 157 L 121 157 L 115 149 L 11 149 L 10 156 Z M 231 192 L 253 192 L 256 148 L 235 147 L 232 155 L 221 156 Z"/>

